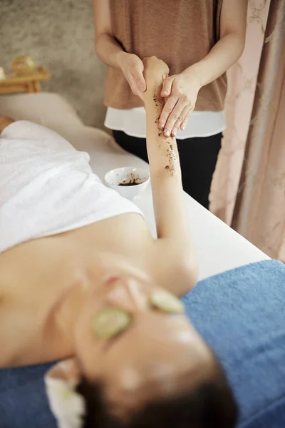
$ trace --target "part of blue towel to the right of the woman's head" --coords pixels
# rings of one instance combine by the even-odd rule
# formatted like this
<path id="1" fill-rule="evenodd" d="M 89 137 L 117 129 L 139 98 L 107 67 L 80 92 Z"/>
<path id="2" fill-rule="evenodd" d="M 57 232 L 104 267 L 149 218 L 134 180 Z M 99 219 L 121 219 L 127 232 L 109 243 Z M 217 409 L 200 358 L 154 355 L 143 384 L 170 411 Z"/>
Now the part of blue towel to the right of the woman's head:
<path id="1" fill-rule="evenodd" d="M 183 300 L 228 373 L 239 427 L 284 428 L 285 265 L 266 260 L 229 270 Z"/>

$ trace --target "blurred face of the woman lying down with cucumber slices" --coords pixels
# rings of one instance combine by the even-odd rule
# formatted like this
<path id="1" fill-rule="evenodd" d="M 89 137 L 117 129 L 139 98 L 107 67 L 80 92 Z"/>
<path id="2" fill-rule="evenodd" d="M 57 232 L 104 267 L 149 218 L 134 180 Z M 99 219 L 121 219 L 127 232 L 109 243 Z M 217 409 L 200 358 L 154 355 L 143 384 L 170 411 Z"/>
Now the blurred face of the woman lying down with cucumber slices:
<path id="1" fill-rule="evenodd" d="M 212 361 L 185 315 L 165 312 L 172 304 L 179 310 L 175 297 L 170 306 L 162 302 L 157 307 L 159 290 L 133 272 L 103 277 L 76 324 L 81 370 L 91 382 L 104 385 L 105 399 L 120 417 L 154 397 L 189 389 Z M 110 337 L 116 314 L 120 331 Z"/>

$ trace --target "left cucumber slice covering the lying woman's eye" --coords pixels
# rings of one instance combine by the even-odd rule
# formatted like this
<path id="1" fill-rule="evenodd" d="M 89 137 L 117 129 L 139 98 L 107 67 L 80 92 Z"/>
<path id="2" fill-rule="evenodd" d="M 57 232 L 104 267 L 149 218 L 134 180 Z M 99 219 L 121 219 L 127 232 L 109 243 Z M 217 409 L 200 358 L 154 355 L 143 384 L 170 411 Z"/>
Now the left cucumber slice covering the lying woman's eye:
<path id="1" fill-rule="evenodd" d="M 92 331 L 100 339 L 110 339 L 130 325 L 130 315 L 125 310 L 110 307 L 98 312 L 93 318 Z"/>

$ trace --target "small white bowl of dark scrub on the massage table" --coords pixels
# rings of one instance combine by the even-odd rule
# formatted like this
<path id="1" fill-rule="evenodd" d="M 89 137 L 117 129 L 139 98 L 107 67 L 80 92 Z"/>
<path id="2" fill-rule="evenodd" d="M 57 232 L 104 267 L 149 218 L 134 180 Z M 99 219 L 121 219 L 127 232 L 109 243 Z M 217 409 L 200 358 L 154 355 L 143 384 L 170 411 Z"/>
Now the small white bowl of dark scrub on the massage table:
<path id="1" fill-rule="evenodd" d="M 126 185 L 126 183 L 134 183 Z M 105 183 L 109 188 L 117 190 L 124 198 L 133 199 L 140 195 L 150 182 L 150 173 L 142 168 L 124 166 L 108 171 Z"/>

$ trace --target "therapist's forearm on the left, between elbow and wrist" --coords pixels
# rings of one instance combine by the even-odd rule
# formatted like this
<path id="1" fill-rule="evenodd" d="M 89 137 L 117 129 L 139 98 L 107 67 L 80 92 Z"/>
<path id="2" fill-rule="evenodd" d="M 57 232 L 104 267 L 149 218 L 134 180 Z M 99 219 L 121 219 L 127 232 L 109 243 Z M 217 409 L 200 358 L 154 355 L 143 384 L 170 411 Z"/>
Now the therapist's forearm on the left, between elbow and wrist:
<path id="1" fill-rule="evenodd" d="M 96 54 L 107 66 L 120 69 L 120 61 L 126 52 L 110 34 L 100 34 L 95 45 Z"/>

